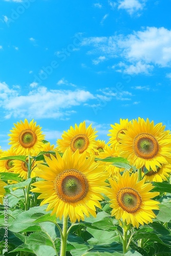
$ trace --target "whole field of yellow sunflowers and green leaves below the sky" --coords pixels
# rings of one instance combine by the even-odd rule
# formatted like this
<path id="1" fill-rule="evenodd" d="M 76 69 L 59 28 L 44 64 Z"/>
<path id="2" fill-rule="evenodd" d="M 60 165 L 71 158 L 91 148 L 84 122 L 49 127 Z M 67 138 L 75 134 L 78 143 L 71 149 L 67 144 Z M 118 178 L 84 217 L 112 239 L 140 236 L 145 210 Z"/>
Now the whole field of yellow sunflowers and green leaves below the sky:
<path id="1" fill-rule="evenodd" d="M 0 150 L 0 255 L 171 255 L 171 134 L 138 118 L 109 142 L 83 121 L 51 145 L 32 121 Z"/>

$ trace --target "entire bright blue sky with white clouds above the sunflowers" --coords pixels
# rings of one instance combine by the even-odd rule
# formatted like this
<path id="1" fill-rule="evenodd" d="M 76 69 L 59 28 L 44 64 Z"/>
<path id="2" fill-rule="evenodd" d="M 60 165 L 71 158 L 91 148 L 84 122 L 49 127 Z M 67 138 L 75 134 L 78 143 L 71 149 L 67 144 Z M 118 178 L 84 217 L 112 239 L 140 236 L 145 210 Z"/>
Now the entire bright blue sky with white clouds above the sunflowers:
<path id="1" fill-rule="evenodd" d="M 106 142 L 120 118 L 171 130 L 171 2 L 1 0 L 0 145 L 27 118 L 56 144 L 86 120 Z"/>

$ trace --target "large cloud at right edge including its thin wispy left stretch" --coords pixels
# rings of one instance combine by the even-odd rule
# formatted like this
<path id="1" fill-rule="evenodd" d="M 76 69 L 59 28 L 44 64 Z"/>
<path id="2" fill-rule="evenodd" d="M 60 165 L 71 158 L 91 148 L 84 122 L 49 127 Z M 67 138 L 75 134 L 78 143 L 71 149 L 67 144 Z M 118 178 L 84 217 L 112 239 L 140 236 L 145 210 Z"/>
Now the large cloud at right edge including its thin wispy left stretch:
<path id="1" fill-rule="evenodd" d="M 155 66 L 171 66 L 171 30 L 163 27 L 147 27 L 127 36 L 84 38 L 81 45 L 91 47 L 88 54 L 102 55 L 106 59 L 121 57 L 118 66 L 122 63 L 122 68 L 118 72 L 149 74 Z"/>

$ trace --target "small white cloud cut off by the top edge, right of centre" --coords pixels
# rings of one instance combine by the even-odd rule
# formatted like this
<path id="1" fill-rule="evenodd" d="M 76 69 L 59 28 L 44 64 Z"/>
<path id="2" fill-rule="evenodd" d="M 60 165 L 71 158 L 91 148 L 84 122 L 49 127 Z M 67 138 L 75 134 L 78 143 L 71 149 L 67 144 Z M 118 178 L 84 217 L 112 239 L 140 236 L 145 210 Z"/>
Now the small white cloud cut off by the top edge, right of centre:
<path id="1" fill-rule="evenodd" d="M 123 0 L 119 1 L 118 9 L 125 9 L 129 14 L 133 14 L 134 12 L 142 10 L 143 7 L 144 3 L 140 3 L 138 0 Z"/>

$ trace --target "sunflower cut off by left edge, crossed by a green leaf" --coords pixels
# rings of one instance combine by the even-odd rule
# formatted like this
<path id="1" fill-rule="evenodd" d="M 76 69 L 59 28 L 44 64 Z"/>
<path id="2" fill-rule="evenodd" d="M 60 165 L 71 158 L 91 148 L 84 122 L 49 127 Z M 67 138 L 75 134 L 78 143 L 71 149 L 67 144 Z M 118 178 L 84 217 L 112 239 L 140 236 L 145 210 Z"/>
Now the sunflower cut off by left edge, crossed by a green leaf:
<path id="1" fill-rule="evenodd" d="M 16 156 L 16 150 L 13 148 L 10 148 L 7 151 L 4 151 L 1 155 L 1 158 L 3 157 L 9 157 L 9 156 Z M 8 160 L 0 160 L 0 172 L 11 172 L 12 167 L 14 166 L 13 160 L 8 159 Z"/>

